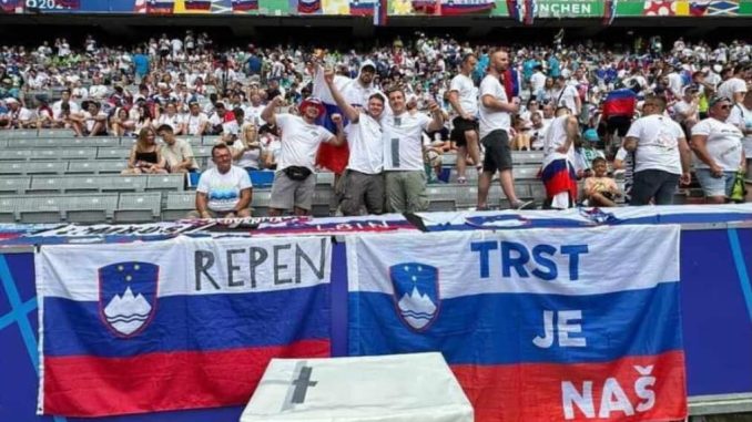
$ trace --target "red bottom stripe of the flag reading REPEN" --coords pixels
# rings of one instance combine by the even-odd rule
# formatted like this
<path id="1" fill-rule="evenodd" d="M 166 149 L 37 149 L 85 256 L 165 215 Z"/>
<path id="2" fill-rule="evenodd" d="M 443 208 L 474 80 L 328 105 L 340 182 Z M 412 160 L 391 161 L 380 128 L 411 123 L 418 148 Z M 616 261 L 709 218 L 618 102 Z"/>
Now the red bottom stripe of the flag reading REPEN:
<path id="1" fill-rule="evenodd" d="M 247 403 L 272 358 L 326 358 L 329 341 L 132 358 L 45 357 L 44 413 L 103 416 Z"/>

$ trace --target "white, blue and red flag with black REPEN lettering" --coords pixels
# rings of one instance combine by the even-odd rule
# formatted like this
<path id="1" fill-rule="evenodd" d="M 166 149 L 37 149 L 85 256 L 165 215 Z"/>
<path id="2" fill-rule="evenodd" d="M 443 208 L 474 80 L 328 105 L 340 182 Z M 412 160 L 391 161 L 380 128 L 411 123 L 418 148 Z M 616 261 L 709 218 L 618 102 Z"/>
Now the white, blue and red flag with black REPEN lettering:
<path id="1" fill-rule="evenodd" d="M 246 403 L 272 358 L 331 354 L 331 251 L 328 237 L 43 246 L 38 412 Z"/>

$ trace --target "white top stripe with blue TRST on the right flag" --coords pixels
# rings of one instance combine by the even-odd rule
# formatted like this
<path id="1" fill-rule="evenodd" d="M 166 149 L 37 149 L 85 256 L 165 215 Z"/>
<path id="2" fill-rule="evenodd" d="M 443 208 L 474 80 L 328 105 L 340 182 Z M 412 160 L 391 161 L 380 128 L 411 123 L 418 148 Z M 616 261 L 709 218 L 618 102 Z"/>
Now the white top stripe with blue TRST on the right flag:
<path id="1" fill-rule="evenodd" d="M 672 225 L 352 236 L 349 290 L 392 294 L 389 270 L 402 263 L 408 272 L 436 268 L 445 299 L 651 288 L 679 280 L 679 236 Z"/>

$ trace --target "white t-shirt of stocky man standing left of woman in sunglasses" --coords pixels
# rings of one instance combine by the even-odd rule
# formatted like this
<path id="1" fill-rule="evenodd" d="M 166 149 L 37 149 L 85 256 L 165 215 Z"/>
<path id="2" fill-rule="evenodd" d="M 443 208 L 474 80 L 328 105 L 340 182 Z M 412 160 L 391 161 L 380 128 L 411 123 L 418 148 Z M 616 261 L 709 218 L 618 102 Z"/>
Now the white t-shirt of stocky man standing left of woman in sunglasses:
<path id="1" fill-rule="evenodd" d="M 629 127 L 627 137 L 636 137 L 634 172 L 658 169 L 671 174 L 682 174 L 679 155 L 679 140 L 684 131 L 679 123 L 661 115 L 652 114 L 638 119 Z"/>

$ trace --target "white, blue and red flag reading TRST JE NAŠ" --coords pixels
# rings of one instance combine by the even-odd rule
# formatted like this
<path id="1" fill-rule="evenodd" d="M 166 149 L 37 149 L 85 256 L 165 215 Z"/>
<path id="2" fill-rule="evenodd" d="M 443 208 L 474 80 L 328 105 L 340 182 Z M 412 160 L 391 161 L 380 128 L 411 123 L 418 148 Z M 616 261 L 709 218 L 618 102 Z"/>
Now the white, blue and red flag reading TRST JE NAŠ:
<path id="1" fill-rule="evenodd" d="M 682 420 L 679 236 L 347 237 L 349 354 L 440 351 L 479 422 Z"/>

